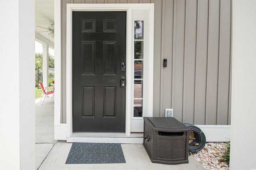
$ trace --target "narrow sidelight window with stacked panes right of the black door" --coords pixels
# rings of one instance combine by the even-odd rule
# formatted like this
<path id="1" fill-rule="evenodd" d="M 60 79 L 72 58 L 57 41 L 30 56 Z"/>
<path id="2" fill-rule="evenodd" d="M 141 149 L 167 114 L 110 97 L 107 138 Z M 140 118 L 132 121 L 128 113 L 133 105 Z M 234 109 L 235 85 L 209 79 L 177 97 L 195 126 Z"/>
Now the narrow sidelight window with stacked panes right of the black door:
<path id="1" fill-rule="evenodd" d="M 143 21 L 134 21 L 134 117 L 143 111 Z"/>

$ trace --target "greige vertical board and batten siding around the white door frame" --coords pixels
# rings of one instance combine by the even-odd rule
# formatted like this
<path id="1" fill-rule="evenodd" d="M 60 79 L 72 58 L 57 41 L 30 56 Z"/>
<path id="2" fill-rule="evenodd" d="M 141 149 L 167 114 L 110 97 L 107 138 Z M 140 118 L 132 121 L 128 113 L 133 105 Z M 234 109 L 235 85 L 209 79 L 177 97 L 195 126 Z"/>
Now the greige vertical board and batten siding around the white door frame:
<path id="1" fill-rule="evenodd" d="M 62 0 L 62 123 L 67 3 L 154 3 L 154 117 L 230 125 L 231 0 Z"/>

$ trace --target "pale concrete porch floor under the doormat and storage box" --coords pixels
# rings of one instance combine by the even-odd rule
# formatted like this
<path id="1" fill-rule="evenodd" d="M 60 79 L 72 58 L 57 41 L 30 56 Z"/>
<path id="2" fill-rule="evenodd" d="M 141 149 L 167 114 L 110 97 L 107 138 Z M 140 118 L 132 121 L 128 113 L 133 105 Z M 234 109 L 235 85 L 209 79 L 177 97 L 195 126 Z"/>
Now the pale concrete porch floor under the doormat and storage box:
<path id="1" fill-rule="evenodd" d="M 36 100 L 36 170 L 205 170 L 193 156 L 188 164 L 152 163 L 142 144 L 121 144 L 125 164 L 65 164 L 72 143 L 54 140 L 54 99 Z"/>

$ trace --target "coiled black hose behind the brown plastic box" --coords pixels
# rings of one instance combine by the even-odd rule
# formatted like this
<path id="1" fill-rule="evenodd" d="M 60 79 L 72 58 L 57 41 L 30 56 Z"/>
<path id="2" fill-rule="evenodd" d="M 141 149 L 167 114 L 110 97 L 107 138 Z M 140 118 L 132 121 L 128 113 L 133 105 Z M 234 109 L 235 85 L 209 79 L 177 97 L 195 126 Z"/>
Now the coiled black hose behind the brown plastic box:
<path id="1" fill-rule="evenodd" d="M 198 152 L 202 150 L 206 144 L 206 137 L 204 135 L 204 132 L 197 126 L 184 123 L 186 127 L 190 128 L 190 131 L 194 132 L 194 140 L 188 145 L 188 151 L 189 152 Z"/>

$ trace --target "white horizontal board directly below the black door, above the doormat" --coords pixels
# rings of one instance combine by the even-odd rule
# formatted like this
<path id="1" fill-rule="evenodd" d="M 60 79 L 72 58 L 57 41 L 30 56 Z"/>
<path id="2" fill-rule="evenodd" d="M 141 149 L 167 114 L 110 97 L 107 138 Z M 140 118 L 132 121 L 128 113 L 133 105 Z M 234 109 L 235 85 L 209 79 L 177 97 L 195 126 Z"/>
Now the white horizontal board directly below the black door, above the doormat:
<path id="1" fill-rule="evenodd" d="M 70 137 L 67 142 L 142 144 L 143 138 Z"/>

